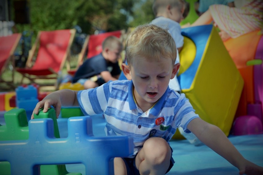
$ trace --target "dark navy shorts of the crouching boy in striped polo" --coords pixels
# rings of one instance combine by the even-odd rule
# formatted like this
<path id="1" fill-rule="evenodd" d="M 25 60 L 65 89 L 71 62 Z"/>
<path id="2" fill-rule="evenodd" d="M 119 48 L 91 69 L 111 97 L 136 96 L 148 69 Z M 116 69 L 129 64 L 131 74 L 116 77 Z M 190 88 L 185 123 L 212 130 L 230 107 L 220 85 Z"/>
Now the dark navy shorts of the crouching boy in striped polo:
<path id="1" fill-rule="evenodd" d="M 170 147 L 171 148 L 171 147 Z M 170 171 L 170 169 L 173 167 L 173 164 L 174 164 L 174 160 L 173 160 L 173 149 L 171 148 L 171 159 L 170 159 L 170 165 L 169 165 L 169 168 L 168 170 L 166 171 L 166 173 L 168 173 Z M 136 168 L 136 165 L 135 165 L 135 158 L 122 158 L 125 165 L 126 165 L 126 169 L 127 169 L 127 175 L 140 175 L 140 172 L 139 170 Z M 165 173 L 165 174 L 166 174 Z"/>

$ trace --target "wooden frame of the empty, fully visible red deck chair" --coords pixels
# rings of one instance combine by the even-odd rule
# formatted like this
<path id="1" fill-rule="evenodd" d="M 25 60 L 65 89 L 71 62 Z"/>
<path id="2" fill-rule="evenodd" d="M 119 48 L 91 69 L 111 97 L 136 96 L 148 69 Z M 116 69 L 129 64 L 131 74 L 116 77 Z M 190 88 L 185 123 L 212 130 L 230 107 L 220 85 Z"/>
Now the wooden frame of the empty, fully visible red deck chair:
<path id="1" fill-rule="evenodd" d="M 60 68 L 59 70 L 62 71 L 63 67 L 65 66 L 66 64 L 66 69 L 69 70 L 70 69 L 70 66 L 69 66 L 69 57 L 70 57 L 70 47 L 73 43 L 73 39 L 74 39 L 74 36 L 76 34 L 76 30 L 75 29 L 70 29 L 69 30 L 71 35 L 70 35 L 70 38 L 69 38 L 69 42 L 68 42 L 68 46 L 66 48 L 66 52 L 65 52 L 65 55 L 62 59 L 62 62 L 60 64 Z M 42 31 L 39 31 L 38 32 L 38 35 L 37 35 L 37 38 L 35 40 L 35 43 L 33 44 L 32 46 L 32 49 L 29 51 L 29 55 L 28 55 L 28 59 L 27 59 L 27 62 L 26 62 L 26 69 L 29 69 L 33 66 L 34 64 L 34 56 L 40 45 L 40 35 L 41 35 L 41 32 Z M 20 68 L 17 68 L 16 69 L 19 73 L 21 73 L 23 75 L 23 78 L 21 79 L 21 83 L 23 82 L 23 79 L 26 77 L 27 79 L 29 79 L 31 82 L 35 82 L 36 79 L 57 79 L 58 78 L 58 74 L 59 72 L 57 71 L 54 71 L 52 68 L 48 68 L 47 71 L 49 71 L 50 73 L 48 73 L 48 75 L 34 75 L 34 74 L 29 74 L 27 73 L 27 71 L 25 69 L 20 69 Z M 41 84 L 40 84 L 41 86 Z M 54 86 L 54 84 L 52 84 L 52 86 Z M 58 84 L 55 83 L 55 87 L 57 88 L 58 87 Z"/>

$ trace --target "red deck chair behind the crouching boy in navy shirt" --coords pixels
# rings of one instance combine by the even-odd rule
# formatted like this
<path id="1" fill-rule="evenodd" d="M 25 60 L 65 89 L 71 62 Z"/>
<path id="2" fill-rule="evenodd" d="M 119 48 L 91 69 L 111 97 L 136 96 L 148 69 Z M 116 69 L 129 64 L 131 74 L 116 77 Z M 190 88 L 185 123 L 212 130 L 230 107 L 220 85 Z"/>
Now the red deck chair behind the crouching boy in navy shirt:
<path id="1" fill-rule="evenodd" d="M 119 31 L 112 31 L 112 32 L 106 32 L 106 33 L 101 33 L 98 35 L 88 35 L 86 37 L 86 40 L 83 44 L 82 50 L 79 54 L 78 61 L 77 61 L 77 67 L 74 70 L 68 71 L 70 75 L 74 75 L 75 72 L 77 71 L 78 67 L 83 63 L 85 53 L 87 51 L 86 59 L 91 58 L 95 55 L 98 55 L 99 53 L 102 52 L 102 42 L 105 38 L 108 36 L 116 36 L 123 41 L 124 39 L 124 30 L 119 30 Z"/>

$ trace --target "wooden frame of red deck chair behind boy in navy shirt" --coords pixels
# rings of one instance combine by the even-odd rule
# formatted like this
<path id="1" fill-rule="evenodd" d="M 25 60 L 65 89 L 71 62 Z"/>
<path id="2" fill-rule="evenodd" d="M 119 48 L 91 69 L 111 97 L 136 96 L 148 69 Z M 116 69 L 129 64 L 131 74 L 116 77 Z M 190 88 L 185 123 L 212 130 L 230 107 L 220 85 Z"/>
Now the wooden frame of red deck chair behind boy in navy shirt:
<path id="1" fill-rule="evenodd" d="M 124 46 L 125 46 L 125 42 L 124 42 L 124 41 L 125 41 L 126 38 L 127 38 L 126 32 L 125 32 L 125 30 L 119 30 L 119 31 L 121 32 L 120 41 L 123 43 L 123 48 L 124 48 Z M 78 55 L 78 60 L 77 60 L 77 66 L 76 66 L 76 68 L 68 71 L 68 73 L 69 73 L 70 75 L 74 75 L 74 74 L 75 74 L 75 72 L 77 71 L 77 69 L 81 66 L 81 64 L 82 64 L 83 61 L 85 60 L 85 57 L 86 57 L 86 59 L 88 59 L 88 54 L 87 54 L 87 53 L 88 53 L 88 50 L 89 50 L 88 45 L 89 45 L 90 42 L 92 42 L 92 41 L 90 41 L 90 36 L 91 36 L 91 35 L 87 35 L 87 37 L 86 37 L 86 39 L 85 39 L 85 41 L 84 41 L 84 44 L 83 44 L 82 49 L 81 49 L 81 52 L 80 52 L 79 55 Z M 93 55 L 93 56 L 94 56 L 94 55 Z"/>

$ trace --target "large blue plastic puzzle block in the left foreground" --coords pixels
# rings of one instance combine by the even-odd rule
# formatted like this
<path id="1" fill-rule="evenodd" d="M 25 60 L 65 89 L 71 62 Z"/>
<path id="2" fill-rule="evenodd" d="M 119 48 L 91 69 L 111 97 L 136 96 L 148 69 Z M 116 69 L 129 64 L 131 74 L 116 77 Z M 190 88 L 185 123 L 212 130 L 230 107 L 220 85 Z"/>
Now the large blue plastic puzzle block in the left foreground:
<path id="1" fill-rule="evenodd" d="M 68 137 L 55 138 L 52 119 L 29 121 L 28 140 L 0 141 L 0 161 L 11 174 L 39 174 L 39 165 L 85 165 L 86 174 L 114 174 L 113 158 L 133 154 L 130 136 L 95 137 L 90 117 L 68 119 Z"/>

